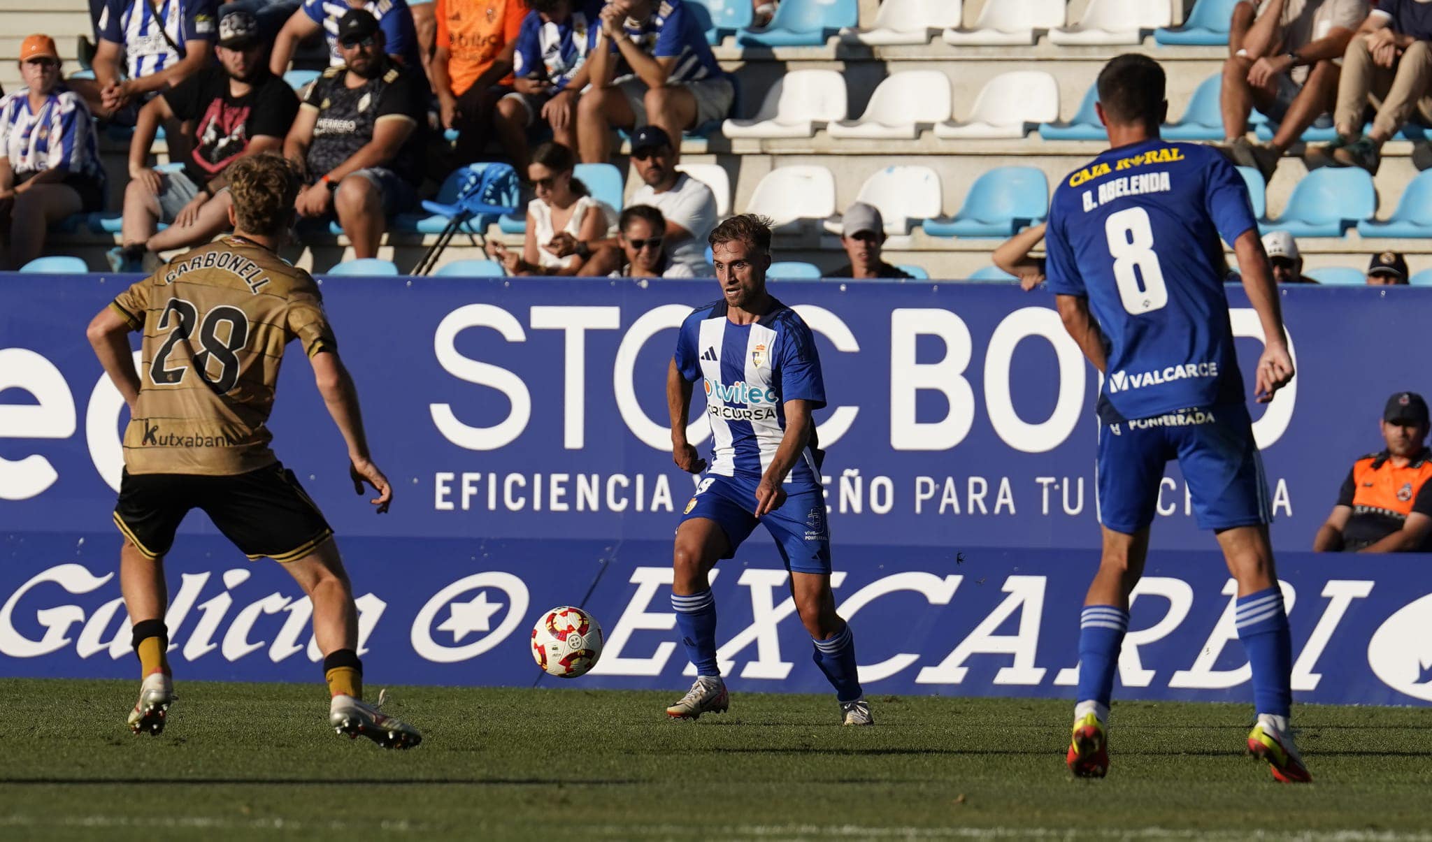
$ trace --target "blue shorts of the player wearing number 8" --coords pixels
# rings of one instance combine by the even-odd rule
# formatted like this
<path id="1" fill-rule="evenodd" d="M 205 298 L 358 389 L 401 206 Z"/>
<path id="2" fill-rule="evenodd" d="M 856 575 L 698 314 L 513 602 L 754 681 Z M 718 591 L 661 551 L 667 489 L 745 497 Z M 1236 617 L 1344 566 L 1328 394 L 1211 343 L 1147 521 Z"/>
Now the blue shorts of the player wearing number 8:
<path id="1" fill-rule="evenodd" d="M 1263 458 L 1243 404 L 1098 424 L 1098 520 L 1116 533 L 1148 527 L 1164 464 L 1179 460 L 1199 528 L 1273 520 Z"/>

